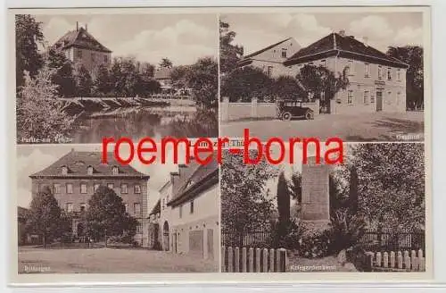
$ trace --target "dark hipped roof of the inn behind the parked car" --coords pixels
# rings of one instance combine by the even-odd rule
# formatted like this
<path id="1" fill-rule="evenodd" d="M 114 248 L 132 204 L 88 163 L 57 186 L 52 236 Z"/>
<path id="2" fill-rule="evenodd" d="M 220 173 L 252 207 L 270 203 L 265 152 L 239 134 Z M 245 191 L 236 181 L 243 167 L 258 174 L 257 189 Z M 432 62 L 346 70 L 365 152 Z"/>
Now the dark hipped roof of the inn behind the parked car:
<path id="1" fill-rule="evenodd" d="M 408 68 L 407 63 L 384 54 L 372 46 L 367 46 L 353 36 L 331 33 L 310 46 L 301 48 L 285 61 L 285 66 L 305 63 L 332 55 L 359 59 L 370 63 L 381 63 L 388 66 Z"/>

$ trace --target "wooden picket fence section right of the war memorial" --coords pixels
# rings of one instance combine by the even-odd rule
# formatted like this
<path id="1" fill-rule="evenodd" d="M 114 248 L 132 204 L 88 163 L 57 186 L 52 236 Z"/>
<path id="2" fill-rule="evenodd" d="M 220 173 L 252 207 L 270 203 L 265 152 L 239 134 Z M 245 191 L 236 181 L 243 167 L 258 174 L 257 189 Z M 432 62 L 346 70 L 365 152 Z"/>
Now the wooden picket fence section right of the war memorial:
<path id="1" fill-rule="evenodd" d="M 425 257 L 423 250 L 419 249 L 418 253 L 412 250 L 409 251 L 388 252 L 369 252 L 368 265 L 372 272 L 424 272 L 425 271 Z"/>

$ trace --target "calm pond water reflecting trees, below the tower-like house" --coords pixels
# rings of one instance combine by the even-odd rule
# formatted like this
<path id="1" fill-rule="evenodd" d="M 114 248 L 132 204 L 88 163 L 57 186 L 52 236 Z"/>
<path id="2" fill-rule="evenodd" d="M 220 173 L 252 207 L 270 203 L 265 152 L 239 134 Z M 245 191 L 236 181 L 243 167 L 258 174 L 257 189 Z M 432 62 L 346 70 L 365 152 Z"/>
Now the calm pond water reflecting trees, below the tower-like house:
<path id="1" fill-rule="evenodd" d="M 78 115 L 72 143 L 101 143 L 103 137 L 217 138 L 217 114 L 194 106 L 134 106 Z"/>

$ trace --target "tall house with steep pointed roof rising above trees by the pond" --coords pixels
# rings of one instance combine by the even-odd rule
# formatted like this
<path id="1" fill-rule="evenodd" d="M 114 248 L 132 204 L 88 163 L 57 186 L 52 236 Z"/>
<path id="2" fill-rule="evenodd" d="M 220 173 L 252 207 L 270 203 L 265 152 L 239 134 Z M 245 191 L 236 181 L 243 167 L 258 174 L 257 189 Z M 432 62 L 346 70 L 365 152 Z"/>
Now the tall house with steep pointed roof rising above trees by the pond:
<path id="1" fill-rule="evenodd" d="M 70 30 L 54 43 L 54 48 L 61 49 L 65 56 L 75 65 L 83 65 L 92 77 L 100 65 L 111 64 L 111 50 L 103 46 L 85 28 Z"/>

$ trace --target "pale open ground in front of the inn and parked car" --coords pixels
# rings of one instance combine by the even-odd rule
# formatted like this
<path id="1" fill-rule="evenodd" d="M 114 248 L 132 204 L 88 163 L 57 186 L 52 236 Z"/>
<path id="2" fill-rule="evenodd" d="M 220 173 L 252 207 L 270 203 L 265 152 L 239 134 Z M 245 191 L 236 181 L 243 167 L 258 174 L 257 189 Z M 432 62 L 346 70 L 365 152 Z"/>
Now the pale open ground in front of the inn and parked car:
<path id="1" fill-rule="evenodd" d="M 320 114 L 314 120 L 229 121 L 221 124 L 220 136 L 242 138 L 244 129 L 251 137 L 266 141 L 272 137 L 326 138 L 344 141 L 423 141 L 424 112 Z"/>

